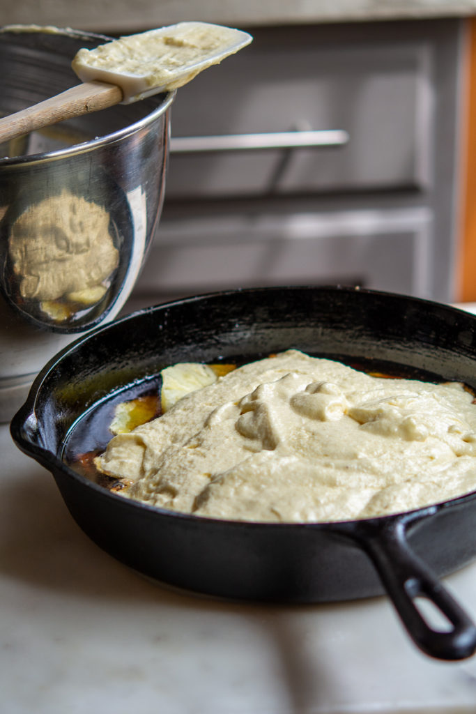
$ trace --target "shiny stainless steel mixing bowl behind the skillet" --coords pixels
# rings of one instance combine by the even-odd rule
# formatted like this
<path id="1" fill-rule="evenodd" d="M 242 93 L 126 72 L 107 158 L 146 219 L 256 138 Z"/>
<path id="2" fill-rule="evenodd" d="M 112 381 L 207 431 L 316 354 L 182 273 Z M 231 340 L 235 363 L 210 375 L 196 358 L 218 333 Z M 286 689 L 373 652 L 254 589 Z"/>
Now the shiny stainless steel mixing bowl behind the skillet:
<path id="1" fill-rule="evenodd" d="M 0 114 L 78 84 L 100 35 L 0 29 Z M 163 203 L 173 93 L 0 145 L 0 421 L 45 361 L 123 307 Z"/>

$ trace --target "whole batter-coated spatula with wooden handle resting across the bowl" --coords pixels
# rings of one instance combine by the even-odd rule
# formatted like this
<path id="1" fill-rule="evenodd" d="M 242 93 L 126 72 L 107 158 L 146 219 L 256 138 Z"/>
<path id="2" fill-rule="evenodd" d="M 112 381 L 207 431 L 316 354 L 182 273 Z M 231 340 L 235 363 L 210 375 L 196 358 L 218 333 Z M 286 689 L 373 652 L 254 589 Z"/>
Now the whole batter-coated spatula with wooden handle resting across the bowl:
<path id="1" fill-rule="evenodd" d="M 83 84 L 4 116 L 0 144 L 64 119 L 178 89 L 252 39 L 231 27 L 180 22 L 80 49 L 71 66 Z"/>

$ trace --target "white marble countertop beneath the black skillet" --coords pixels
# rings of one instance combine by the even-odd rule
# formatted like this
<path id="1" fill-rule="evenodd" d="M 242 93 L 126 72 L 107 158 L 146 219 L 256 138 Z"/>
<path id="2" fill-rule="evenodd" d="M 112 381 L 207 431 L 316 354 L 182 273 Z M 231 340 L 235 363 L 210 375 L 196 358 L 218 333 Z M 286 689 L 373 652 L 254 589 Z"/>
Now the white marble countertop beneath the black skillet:
<path id="1" fill-rule="evenodd" d="M 0 426 L 0 711 L 474 714 L 476 658 L 422 655 L 386 598 L 278 607 L 175 593 L 79 530 Z M 445 578 L 476 618 L 476 563 Z"/>

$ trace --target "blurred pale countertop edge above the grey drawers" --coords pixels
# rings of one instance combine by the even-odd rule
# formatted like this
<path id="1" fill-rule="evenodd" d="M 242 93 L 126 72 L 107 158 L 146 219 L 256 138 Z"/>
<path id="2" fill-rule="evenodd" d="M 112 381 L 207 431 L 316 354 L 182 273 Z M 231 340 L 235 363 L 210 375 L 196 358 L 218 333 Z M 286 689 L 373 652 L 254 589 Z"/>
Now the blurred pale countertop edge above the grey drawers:
<path id="1" fill-rule="evenodd" d="M 53 24 L 127 33 L 181 20 L 258 26 L 467 16 L 475 11 L 476 0 L 0 0 L 0 25 Z"/>

